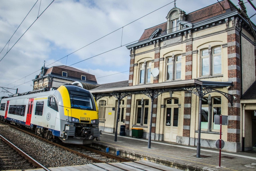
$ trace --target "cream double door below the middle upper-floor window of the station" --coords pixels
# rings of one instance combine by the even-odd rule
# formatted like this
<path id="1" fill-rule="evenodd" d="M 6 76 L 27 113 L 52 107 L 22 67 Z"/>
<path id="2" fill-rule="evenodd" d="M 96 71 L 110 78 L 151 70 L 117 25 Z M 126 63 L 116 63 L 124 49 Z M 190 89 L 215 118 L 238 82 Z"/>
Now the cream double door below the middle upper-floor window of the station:
<path id="1" fill-rule="evenodd" d="M 178 132 L 178 99 L 169 99 L 166 104 L 164 141 L 176 142 Z"/>

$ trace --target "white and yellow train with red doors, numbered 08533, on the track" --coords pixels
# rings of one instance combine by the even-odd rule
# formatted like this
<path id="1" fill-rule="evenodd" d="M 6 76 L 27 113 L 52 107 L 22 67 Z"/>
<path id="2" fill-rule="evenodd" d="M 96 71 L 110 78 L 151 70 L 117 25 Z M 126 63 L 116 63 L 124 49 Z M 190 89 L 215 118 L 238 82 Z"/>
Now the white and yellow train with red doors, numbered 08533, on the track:
<path id="1" fill-rule="evenodd" d="M 100 140 L 93 95 L 76 85 L 0 99 L 0 120 L 35 130 L 50 141 L 91 144 Z"/>

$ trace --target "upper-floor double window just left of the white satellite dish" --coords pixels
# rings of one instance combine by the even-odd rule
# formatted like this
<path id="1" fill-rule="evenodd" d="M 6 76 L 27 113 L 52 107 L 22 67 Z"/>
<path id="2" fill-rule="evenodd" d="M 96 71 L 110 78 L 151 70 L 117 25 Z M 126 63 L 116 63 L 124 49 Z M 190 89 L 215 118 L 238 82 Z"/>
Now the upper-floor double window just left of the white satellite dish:
<path id="1" fill-rule="evenodd" d="M 144 62 L 140 64 L 140 84 L 150 83 L 152 62 Z"/>

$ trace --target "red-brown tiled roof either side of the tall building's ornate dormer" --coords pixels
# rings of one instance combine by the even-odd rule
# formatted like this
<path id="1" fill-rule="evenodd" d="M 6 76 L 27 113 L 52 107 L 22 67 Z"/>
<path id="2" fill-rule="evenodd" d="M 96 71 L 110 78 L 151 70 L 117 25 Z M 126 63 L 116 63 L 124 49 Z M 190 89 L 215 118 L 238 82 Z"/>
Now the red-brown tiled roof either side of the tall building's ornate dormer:
<path id="1" fill-rule="evenodd" d="M 221 5 L 220 5 L 221 4 Z M 223 8 L 225 9 L 223 9 Z M 197 23 L 199 21 L 203 21 L 212 17 L 215 17 L 217 15 L 234 11 L 236 10 L 233 4 L 229 3 L 227 0 L 220 1 L 220 3 L 215 3 L 213 5 L 210 5 L 208 7 L 199 9 L 197 11 L 191 12 L 186 16 L 185 21 L 191 22 L 191 23 Z M 157 26 L 145 29 L 144 33 L 139 39 L 139 42 L 142 40 L 148 39 L 151 34 L 158 28 L 162 29 L 161 35 L 166 34 L 167 31 L 167 22 L 159 24 Z"/>

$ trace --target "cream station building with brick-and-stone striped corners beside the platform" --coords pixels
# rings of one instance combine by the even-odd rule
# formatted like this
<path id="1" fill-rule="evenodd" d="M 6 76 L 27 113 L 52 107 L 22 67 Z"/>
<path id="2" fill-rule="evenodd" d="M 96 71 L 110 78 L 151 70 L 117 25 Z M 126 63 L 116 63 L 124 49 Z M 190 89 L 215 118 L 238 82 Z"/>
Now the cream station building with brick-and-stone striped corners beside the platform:
<path id="1" fill-rule="evenodd" d="M 143 138 L 192 146 L 200 134 L 201 147 L 216 148 L 220 125 L 214 118 L 221 114 L 228 116 L 223 149 L 251 150 L 256 144 L 255 25 L 250 27 L 229 0 L 188 14 L 174 5 L 166 19 L 127 46 L 129 80 L 90 90 L 100 129 L 119 133 L 125 125 L 126 136 L 132 136 L 132 128 L 142 128 Z"/>

